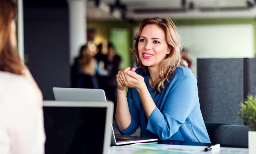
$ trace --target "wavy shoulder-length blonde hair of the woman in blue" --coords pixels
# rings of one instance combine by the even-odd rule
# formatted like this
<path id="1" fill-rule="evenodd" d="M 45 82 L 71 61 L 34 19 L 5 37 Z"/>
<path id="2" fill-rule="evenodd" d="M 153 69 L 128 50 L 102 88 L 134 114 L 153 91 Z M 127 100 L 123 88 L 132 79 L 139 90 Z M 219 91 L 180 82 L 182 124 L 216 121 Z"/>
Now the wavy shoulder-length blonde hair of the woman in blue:
<path id="1" fill-rule="evenodd" d="M 164 87 L 164 84 L 166 81 L 169 82 L 169 79 L 171 79 L 174 76 L 175 69 L 178 66 L 184 66 L 188 67 L 188 64 L 185 60 L 183 60 L 180 56 L 181 51 L 181 45 L 180 45 L 180 39 L 179 35 L 176 31 L 176 26 L 173 23 L 173 21 L 169 18 L 146 18 L 142 22 L 140 22 L 140 28 L 137 34 L 134 36 L 135 45 L 134 49 L 131 50 L 134 54 L 134 59 L 136 62 L 136 65 L 138 69 L 142 69 L 143 75 L 148 75 L 148 67 L 144 66 L 142 62 L 140 61 L 139 53 L 138 53 L 138 43 L 140 39 L 140 34 L 143 30 L 143 28 L 146 25 L 156 25 L 159 28 L 161 28 L 166 35 L 166 42 L 168 44 L 169 49 L 171 49 L 170 54 L 166 55 L 166 57 L 163 59 L 163 61 L 159 64 L 159 78 L 154 81 L 156 82 L 156 90 L 157 92 L 161 93 Z"/>

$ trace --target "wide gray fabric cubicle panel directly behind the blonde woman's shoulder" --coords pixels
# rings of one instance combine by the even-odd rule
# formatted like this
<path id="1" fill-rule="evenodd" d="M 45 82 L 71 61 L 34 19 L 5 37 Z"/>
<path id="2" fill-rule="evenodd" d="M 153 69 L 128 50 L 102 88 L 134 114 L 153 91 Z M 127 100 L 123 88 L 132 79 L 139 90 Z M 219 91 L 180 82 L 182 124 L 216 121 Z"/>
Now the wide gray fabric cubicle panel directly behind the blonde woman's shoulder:
<path id="1" fill-rule="evenodd" d="M 243 59 L 198 59 L 198 95 L 204 121 L 243 125 Z"/>

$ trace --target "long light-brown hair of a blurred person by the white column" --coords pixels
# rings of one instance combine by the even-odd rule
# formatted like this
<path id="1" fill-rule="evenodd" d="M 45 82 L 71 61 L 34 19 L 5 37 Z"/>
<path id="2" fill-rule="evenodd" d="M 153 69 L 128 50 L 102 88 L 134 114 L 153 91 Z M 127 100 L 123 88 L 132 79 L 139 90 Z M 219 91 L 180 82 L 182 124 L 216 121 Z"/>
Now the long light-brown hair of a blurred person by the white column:
<path id="1" fill-rule="evenodd" d="M 95 60 L 90 54 L 90 50 L 87 45 L 83 45 L 80 49 L 79 64 L 83 73 L 93 76 L 96 74 Z"/>

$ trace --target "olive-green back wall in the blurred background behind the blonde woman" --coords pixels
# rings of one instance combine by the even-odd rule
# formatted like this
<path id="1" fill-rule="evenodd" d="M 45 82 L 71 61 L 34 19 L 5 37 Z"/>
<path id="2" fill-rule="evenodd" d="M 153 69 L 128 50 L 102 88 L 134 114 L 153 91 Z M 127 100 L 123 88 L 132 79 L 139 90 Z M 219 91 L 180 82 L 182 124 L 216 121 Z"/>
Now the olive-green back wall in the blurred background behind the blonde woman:
<path id="1" fill-rule="evenodd" d="M 254 27 L 254 40 L 256 40 L 256 20 L 251 19 L 191 19 L 191 20 L 174 20 L 177 26 L 180 25 L 233 25 L 233 24 L 252 24 Z M 130 48 L 133 48 L 133 29 L 139 26 L 140 21 L 105 21 L 105 22 L 87 22 L 88 29 L 95 29 L 95 43 L 110 40 L 110 31 L 112 28 L 126 28 L 130 31 Z M 256 43 L 254 43 L 256 53 Z M 131 56 L 130 56 L 131 57 Z M 130 57 L 127 57 L 130 59 Z M 131 59 L 130 59 L 131 60 Z"/>

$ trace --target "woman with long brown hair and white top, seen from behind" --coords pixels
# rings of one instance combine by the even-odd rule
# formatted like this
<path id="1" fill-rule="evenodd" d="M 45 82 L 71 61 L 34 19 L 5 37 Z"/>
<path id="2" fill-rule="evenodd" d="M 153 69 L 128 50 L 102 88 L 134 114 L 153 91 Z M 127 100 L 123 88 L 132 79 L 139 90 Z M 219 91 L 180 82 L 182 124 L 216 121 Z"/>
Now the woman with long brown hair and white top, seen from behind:
<path id="1" fill-rule="evenodd" d="M 44 154 L 43 95 L 15 52 L 16 15 L 0 0 L 0 154 Z"/>

